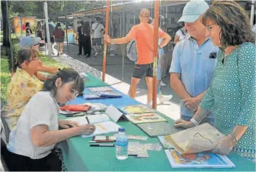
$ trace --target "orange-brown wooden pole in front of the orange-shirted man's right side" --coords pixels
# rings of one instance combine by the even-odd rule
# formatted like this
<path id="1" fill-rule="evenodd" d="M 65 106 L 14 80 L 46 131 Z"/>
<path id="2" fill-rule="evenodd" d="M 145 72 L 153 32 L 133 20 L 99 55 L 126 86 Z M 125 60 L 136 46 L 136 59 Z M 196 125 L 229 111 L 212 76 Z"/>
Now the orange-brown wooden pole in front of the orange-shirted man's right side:
<path id="1" fill-rule="evenodd" d="M 155 0 L 154 17 L 154 65 L 153 65 L 153 100 L 152 108 L 157 109 L 157 57 L 158 57 L 158 30 L 159 30 L 159 0 Z"/>

